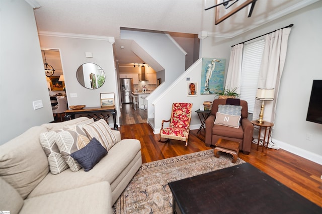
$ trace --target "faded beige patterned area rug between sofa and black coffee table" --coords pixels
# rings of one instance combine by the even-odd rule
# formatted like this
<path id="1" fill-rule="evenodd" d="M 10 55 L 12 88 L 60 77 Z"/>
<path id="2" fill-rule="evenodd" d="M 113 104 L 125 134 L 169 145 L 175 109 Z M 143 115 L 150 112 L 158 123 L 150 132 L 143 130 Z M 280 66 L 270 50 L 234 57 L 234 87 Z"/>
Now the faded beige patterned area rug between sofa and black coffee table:
<path id="1" fill-rule="evenodd" d="M 245 163 L 213 149 L 142 164 L 113 205 L 114 213 L 172 213 L 169 182 Z"/>

